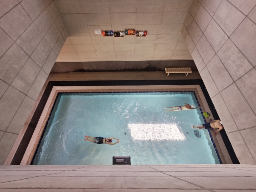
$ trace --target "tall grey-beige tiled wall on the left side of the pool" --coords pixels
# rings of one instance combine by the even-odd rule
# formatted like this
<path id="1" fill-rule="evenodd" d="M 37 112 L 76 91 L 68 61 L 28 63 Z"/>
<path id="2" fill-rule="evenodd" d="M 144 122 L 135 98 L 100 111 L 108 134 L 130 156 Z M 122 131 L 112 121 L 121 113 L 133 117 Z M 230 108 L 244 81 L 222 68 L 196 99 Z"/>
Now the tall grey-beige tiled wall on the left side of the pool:
<path id="1" fill-rule="evenodd" d="M 67 37 L 52 0 L 0 1 L 0 164 Z"/>

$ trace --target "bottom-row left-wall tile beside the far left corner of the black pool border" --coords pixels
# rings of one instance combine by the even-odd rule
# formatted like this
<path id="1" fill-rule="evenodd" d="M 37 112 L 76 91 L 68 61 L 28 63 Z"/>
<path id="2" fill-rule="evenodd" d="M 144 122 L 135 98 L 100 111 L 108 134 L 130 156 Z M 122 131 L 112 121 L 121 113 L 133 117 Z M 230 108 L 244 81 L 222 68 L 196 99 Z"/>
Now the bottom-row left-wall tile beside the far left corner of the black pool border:
<path id="1" fill-rule="evenodd" d="M 44 86 L 47 77 L 48 75 L 43 70 L 40 70 L 38 76 L 28 91 L 28 96 L 36 100 L 40 91 L 42 90 L 42 87 Z"/>

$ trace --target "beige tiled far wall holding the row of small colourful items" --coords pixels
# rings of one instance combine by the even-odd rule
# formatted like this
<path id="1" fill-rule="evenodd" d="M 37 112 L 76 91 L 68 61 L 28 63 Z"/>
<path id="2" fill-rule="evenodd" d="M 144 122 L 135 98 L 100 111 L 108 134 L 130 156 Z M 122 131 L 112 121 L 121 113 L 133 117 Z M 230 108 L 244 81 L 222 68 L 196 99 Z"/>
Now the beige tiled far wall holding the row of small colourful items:
<path id="1" fill-rule="evenodd" d="M 69 38 L 56 61 L 192 59 L 181 29 L 192 0 L 54 0 Z M 103 37 L 94 30 L 147 30 Z"/>

